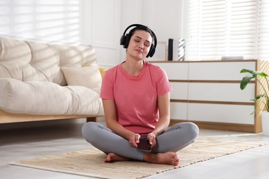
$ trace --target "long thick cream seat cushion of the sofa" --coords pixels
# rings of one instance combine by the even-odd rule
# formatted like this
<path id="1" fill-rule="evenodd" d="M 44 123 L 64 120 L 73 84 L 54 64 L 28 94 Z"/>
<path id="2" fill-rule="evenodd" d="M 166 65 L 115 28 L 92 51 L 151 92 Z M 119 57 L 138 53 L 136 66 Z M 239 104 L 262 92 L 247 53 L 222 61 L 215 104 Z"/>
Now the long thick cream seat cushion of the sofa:
<path id="1" fill-rule="evenodd" d="M 99 94 L 81 86 L 0 78 L 0 109 L 17 114 L 103 115 Z"/>

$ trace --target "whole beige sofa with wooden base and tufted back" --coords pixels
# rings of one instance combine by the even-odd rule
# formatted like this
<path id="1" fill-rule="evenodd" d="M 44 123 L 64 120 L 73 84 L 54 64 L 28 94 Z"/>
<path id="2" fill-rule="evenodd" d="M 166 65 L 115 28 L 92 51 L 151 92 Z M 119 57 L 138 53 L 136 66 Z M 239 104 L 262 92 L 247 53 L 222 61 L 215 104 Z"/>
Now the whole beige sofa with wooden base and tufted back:
<path id="1" fill-rule="evenodd" d="M 103 116 L 94 48 L 0 37 L 0 123 Z"/>

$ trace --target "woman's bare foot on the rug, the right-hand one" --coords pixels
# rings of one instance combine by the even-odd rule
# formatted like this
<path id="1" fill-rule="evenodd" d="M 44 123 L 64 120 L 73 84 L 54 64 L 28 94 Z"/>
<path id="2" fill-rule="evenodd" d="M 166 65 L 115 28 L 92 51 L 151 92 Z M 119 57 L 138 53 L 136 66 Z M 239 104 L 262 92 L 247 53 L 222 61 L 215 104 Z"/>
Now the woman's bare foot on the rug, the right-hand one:
<path id="1" fill-rule="evenodd" d="M 152 154 L 150 152 L 145 153 L 144 161 L 156 164 L 170 164 L 179 165 L 179 157 L 175 152 L 168 151 L 166 153 Z"/>

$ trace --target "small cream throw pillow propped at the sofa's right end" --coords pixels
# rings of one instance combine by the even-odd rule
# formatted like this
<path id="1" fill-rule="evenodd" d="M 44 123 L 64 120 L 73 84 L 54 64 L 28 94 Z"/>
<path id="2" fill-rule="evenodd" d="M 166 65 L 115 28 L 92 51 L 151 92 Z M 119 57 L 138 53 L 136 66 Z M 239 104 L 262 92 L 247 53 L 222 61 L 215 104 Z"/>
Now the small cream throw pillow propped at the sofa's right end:
<path id="1" fill-rule="evenodd" d="M 68 85 L 80 85 L 90 89 L 101 87 L 101 73 L 97 65 L 87 67 L 61 67 Z"/>

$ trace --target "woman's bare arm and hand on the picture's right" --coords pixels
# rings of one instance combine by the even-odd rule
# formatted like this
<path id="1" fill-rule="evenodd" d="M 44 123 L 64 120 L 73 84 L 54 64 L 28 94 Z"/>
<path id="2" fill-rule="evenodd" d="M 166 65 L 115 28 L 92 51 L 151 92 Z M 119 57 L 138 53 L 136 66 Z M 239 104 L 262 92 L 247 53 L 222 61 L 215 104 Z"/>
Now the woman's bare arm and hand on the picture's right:
<path id="1" fill-rule="evenodd" d="M 155 129 L 148 134 L 152 147 L 156 145 L 155 138 L 167 129 L 170 123 L 170 92 L 158 96 L 159 121 Z"/>

